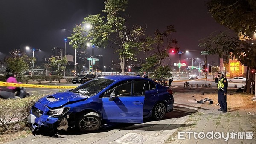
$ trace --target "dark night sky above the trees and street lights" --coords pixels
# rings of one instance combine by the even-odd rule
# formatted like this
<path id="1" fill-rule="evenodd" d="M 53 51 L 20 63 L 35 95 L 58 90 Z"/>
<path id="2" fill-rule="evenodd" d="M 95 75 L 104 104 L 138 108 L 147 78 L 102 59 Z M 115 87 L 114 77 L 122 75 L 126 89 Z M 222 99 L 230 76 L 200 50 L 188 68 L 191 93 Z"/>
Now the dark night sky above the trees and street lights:
<path id="1" fill-rule="evenodd" d="M 26 51 L 29 46 L 42 51 L 35 57 L 41 61 L 43 55 L 51 55 L 53 47 L 64 47 L 64 38 L 76 24 L 80 24 L 89 14 L 102 13 L 104 0 L 0 0 L 0 59 L 8 55 L 11 49 Z M 173 38 L 178 41 L 181 51 L 200 50 L 198 40 L 214 31 L 228 31 L 216 23 L 208 13 L 205 0 L 129 0 L 130 25 L 147 26 L 146 35 L 153 35 L 155 29 L 161 32 L 167 25 L 175 25 L 177 32 Z M 88 56 L 92 49 L 87 49 Z M 32 52 L 30 52 L 30 56 Z M 67 46 L 67 54 L 74 50 Z M 104 65 L 118 59 L 111 48 L 95 49 L 95 55 L 104 55 Z M 140 53 L 137 58 L 146 58 L 148 54 Z M 200 58 L 200 51 L 182 54 L 186 58 Z M 178 62 L 179 55 L 170 55 L 171 62 Z M 217 62 L 217 56 L 208 56 L 209 61 Z M 207 61 L 208 61 L 207 60 Z M 195 60 L 194 60 L 195 61 Z M 188 61 L 189 62 L 189 61 Z M 191 63 L 191 60 L 190 60 Z M 191 64 L 190 64 L 191 65 Z"/>

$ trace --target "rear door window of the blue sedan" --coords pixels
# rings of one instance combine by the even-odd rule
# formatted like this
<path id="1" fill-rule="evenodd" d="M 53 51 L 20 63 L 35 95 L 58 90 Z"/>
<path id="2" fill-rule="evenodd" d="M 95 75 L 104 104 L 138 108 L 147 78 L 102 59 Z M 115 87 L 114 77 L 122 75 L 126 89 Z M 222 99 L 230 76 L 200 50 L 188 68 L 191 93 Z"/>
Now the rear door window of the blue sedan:
<path id="1" fill-rule="evenodd" d="M 145 89 L 148 87 L 147 81 L 134 81 L 133 82 L 133 94 L 137 95 L 145 95 Z"/>

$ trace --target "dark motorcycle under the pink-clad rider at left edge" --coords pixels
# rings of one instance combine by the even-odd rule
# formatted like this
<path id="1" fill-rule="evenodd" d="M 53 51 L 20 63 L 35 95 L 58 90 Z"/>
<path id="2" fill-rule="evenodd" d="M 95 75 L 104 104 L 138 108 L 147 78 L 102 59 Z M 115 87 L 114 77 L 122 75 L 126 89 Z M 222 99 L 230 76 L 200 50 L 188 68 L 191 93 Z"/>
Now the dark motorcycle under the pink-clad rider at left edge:
<path id="1" fill-rule="evenodd" d="M 20 90 L 13 91 L 6 87 L 0 88 L 0 98 L 9 99 L 9 98 L 26 98 L 29 97 L 29 93 L 26 92 L 26 88 L 20 87 Z"/>

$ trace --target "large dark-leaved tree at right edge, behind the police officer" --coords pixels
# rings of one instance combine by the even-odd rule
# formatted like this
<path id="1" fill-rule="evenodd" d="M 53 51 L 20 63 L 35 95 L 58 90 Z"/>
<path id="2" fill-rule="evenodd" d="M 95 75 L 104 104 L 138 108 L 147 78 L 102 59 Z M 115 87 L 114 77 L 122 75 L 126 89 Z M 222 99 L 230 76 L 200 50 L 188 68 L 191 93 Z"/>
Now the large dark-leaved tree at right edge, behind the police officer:
<path id="1" fill-rule="evenodd" d="M 216 22 L 232 29 L 234 33 L 221 32 L 211 34 L 201 40 L 199 46 L 205 47 L 212 54 L 218 54 L 228 63 L 229 59 L 237 59 L 250 68 L 256 66 L 256 4 L 253 0 L 210 0 L 207 3 L 209 12 Z M 243 17 L 243 20 L 241 20 Z M 240 39 L 238 36 L 241 36 Z M 247 91 L 250 91 L 250 81 L 247 81 Z"/>

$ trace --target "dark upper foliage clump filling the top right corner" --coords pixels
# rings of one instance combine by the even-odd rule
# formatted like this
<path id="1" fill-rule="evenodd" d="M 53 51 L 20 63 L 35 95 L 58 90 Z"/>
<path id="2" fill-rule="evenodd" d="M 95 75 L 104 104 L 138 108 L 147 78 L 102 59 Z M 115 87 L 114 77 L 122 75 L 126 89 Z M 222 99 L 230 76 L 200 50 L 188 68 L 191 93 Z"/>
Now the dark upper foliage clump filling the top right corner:
<path id="1" fill-rule="evenodd" d="M 237 34 L 254 37 L 256 32 L 256 4 L 253 0 L 210 0 L 209 12 L 220 23 Z M 242 18 L 242 20 L 241 20 Z"/>

